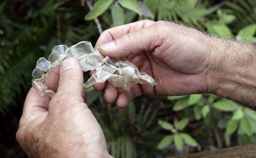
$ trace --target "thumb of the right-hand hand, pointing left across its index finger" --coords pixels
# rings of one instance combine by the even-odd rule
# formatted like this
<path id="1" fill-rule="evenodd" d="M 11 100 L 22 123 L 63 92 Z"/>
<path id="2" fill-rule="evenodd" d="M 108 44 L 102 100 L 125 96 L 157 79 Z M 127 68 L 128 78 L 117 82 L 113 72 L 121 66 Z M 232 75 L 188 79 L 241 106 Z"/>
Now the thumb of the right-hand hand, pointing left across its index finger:
<path id="1" fill-rule="evenodd" d="M 99 51 L 102 55 L 119 58 L 130 54 L 137 54 L 142 51 L 153 50 L 156 45 L 158 29 L 154 25 L 134 31 L 114 39 L 108 43 L 102 44 Z"/>

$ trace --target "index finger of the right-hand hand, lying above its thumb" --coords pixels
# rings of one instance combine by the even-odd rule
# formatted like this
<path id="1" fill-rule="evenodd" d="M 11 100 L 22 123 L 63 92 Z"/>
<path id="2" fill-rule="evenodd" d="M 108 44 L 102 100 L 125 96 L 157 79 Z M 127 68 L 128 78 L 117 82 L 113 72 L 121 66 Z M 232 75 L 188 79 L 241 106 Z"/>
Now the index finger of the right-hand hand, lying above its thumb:
<path id="1" fill-rule="evenodd" d="M 151 20 L 142 20 L 142 21 L 137 21 L 134 23 L 129 23 L 126 25 L 121 25 L 121 26 L 116 26 L 113 28 L 109 28 L 105 30 L 99 37 L 97 43 L 95 44 L 95 48 L 99 48 L 100 45 L 105 44 L 109 41 L 113 41 L 114 39 L 117 39 L 124 34 L 129 34 L 132 31 L 137 31 L 139 29 L 148 27 L 155 23 L 154 21 Z"/>

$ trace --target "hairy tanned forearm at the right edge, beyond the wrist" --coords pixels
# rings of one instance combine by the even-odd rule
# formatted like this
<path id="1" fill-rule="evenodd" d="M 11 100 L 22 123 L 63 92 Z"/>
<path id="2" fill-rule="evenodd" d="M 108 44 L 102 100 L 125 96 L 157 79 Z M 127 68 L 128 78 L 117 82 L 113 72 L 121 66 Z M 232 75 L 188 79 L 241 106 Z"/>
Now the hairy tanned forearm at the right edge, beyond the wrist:
<path id="1" fill-rule="evenodd" d="M 208 92 L 256 109 L 256 47 L 211 38 Z"/>

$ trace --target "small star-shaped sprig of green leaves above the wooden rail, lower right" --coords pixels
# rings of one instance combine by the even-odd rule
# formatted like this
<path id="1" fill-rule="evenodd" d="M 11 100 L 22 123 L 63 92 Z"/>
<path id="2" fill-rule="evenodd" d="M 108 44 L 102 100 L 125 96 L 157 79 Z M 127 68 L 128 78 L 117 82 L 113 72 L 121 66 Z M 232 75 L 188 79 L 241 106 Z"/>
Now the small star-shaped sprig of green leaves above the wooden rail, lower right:
<path id="1" fill-rule="evenodd" d="M 174 126 L 163 120 L 159 120 L 158 124 L 164 129 L 169 130 L 172 132 L 170 135 L 166 135 L 162 138 L 162 140 L 158 143 L 157 148 L 158 149 L 164 149 L 167 148 L 172 142 L 174 142 L 175 147 L 178 150 L 183 149 L 184 142 L 191 146 L 191 147 L 197 147 L 197 141 L 194 140 L 193 137 L 191 137 L 188 133 L 181 132 L 186 125 L 189 123 L 189 119 L 181 119 L 180 121 L 175 120 Z"/>

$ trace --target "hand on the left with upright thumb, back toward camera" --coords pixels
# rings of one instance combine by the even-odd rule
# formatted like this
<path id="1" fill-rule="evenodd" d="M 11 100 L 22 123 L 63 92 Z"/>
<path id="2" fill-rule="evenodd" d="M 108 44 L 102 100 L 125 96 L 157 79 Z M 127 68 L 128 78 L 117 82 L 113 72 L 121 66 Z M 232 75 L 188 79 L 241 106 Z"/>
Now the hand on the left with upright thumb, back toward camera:
<path id="1" fill-rule="evenodd" d="M 16 138 L 35 158 L 107 158 L 102 129 L 84 103 L 83 72 L 77 60 L 67 58 L 46 77 L 53 98 L 31 88 L 24 103 Z"/>

